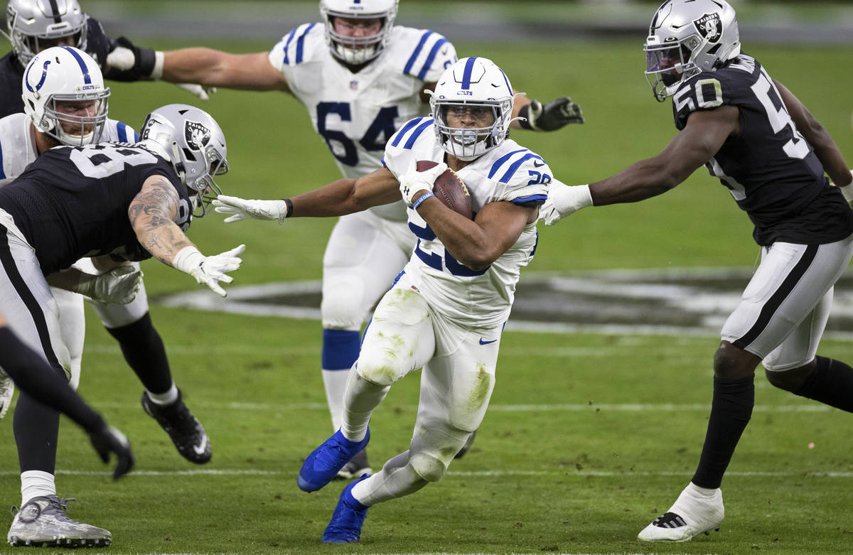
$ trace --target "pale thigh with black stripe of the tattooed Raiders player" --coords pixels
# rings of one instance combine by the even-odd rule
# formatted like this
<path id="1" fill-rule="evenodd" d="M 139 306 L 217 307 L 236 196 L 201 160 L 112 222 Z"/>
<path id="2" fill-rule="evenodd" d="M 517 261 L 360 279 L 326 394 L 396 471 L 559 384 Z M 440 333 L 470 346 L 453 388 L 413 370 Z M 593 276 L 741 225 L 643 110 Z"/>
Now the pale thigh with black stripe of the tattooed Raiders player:
<path id="1" fill-rule="evenodd" d="M 9 327 L 51 366 L 70 377 L 59 308 L 32 247 L 0 227 L 0 310 Z"/>

